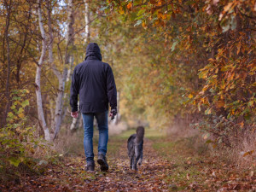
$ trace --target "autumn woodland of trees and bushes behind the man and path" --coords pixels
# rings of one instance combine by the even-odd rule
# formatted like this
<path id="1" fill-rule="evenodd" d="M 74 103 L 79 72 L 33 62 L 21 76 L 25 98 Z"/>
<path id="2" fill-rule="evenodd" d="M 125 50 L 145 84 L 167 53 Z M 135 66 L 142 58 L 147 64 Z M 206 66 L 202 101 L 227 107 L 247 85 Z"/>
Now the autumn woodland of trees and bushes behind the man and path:
<path id="1" fill-rule="evenodd" d="M 44 164 L 81 129 L 70 77 L 90 42 L 113 68 L 115 124 L 195 129 L 212 153 L 251 166 L 255 12 L 255 0 L 1 0 L 0 172 Z"/>

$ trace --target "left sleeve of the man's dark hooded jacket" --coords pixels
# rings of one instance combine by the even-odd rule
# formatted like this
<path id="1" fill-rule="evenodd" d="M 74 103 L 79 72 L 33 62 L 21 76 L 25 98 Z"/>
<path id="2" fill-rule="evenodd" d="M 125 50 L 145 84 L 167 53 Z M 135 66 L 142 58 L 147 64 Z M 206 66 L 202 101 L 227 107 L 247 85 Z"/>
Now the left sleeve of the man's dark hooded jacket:
<path id="1" fill-rule="evenodd" d="M 70 105 L 72 112 L 79 110 L 78 105 L 78 96 L 79 96 L 79 75 L 76 73 L 76 68 L 73 70 L 72 83 L 70 87 Z"/>

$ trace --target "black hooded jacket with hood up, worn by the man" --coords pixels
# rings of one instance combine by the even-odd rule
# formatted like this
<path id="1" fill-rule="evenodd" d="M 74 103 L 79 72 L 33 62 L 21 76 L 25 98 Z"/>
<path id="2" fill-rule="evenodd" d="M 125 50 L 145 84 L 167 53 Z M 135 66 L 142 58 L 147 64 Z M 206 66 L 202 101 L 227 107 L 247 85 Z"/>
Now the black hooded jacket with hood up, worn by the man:
<path id="1" fill-rule="evenodd" d="M 113 72 L 108 63 L 102 62 L 99 46 L 88 44 L 84 62 L 79 63 L 72 76 L 70 105 L 72 112 L 101 113 L 117 107 L 117 93 Z"/>

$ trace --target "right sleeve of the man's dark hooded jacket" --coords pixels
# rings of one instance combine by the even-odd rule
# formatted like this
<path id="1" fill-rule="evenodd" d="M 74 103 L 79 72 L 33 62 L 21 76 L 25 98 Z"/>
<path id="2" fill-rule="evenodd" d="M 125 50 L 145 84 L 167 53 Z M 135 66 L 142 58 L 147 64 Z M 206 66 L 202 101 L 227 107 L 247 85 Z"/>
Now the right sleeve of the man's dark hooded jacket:
<path id="1" fill-rule="evenodd" d="M 113 78 L 112 68 L 108 65 L 107 69 L 107 94 L 111 108 L 117 108 L 117 92 Z"/>

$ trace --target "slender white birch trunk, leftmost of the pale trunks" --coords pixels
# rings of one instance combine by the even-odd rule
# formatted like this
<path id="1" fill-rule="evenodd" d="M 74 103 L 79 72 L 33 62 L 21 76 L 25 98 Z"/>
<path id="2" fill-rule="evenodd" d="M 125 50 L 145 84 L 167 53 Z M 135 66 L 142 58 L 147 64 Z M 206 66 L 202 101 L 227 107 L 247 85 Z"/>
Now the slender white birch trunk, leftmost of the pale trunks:
<path id="1" fill-rule="evenodd" d="M 42 94 L 41 94 L 41 71 L 42 71 L 42 66 L 44 64 L 44 56 L 46 54 L 46 38 L 45 38 L 45 32 L 44 32 L 44 26 L 43 26 L 41 0 L 38 0 L 38 23 L 40 27 L 41 36 L 42 36 L 42 50 L 41 50 L 40 59 L 38 61 L 36 80 L 35 80 L 37 105 L 38 105 L 38 119 L 39 119 L 40 125 L 44 129 L 45 140 L 50 141 L 49 129 L 44 119 L 44 109 L 43 109 Z"/>

